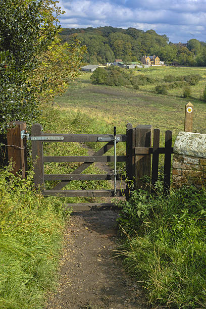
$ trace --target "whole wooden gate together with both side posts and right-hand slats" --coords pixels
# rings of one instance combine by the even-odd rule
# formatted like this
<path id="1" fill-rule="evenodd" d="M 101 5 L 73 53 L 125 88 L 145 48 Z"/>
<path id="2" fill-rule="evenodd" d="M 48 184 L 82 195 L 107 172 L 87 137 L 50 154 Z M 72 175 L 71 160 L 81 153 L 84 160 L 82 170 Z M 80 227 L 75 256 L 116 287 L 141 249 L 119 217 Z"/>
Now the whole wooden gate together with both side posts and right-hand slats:
<path id="1" fill-rule="evenodd" d="M 88 175 L 81 174 L 94 162 L 113 162 L 114 156 L 104 156 L 105 153 L 114 146 L 114 142 L 106 143 L 102 148 L 94 153 L 93 156 L 81 157 L 45 157 L 43 155 L 43 142 L 97 142 L 98 137 L 113 138 L 111 134 L 53 134 L 42 132 L 40 124 L 35 124 L 31 129 L 31 136 L 24 134 L 26 123 L 15 122 L 8 132 L 8 154 L 9 159 L 15 162 L 14 174 L 22 171 L 22 177 L 26 177 L 26 137 L 32 141 L 32 158 L 34 162 L 34 184 L 38 187 L 43 195 L 65 195 L 65 196 L 115 196 L 114 190 L 62 190 L 70 181 L 73 180 L 112 180 L 113 174 Z M 127 184 L 134 182 L 134 188 L 141 188 L 144 184 L 143 176 L 149 177 L 151 184 L 155 184 L 158 180 L 159 173 L 159 155 L 164 154 L 164 190 L 170 189 L 171 177 L 171 155 L 172 148 L 172 131 L 165 132 L 165 147 L 160 147 L 160 130 L 153 130 L 153 146 L 152 126 L 138 125 L 133 128 L 131 124 L 127 124 L 126 134 L 117 135 L 118 142 L 126 142 L 126 156 L 118 156 L 117 162 L 126 162 L 126 178 Z M 44 174 L 45 162 L 81 162 L 82 164 L 67 175 L 48 175 Z M 44 181 L 60 182 L 52 189 L 46 190 Z M 125 195 L 129 198 L 129 185 L 124 192 L 117 190 L 116 196 Z"/>

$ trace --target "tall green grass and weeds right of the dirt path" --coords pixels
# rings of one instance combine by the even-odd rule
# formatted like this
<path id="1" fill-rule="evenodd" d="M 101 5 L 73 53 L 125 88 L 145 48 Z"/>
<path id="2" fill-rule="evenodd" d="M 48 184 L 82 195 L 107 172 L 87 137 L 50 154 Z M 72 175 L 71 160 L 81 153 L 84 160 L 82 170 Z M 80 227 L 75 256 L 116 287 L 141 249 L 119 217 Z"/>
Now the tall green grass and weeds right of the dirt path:
<path id="1" fill-rule="evenodd" d="M 195 187 L 155 195 L 134 191 L 118 219 L 119 250 L 152 306 L 202 308 L 206 303 L 206 191 Z"/>

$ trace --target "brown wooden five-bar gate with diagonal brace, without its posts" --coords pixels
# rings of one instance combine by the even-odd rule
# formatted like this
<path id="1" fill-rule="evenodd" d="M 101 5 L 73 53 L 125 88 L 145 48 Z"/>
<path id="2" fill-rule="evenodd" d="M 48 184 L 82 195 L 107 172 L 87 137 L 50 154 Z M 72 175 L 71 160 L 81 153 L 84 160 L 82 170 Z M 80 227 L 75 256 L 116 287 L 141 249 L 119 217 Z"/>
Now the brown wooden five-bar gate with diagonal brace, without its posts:
<path id="1" fill-rule="evenodd" d="M 40 187 L 43 195 L 64 195 L 64 196 L 85 196 L 85 197 L 97 197 L 97 196 L 115 196 L 114 190 L 62 190 L 70 181 L 73 180 L 112 180 L 113 174 L 81 174 L 86 168 L 88 168 L 94 162 L 114 162 L 114 156 L 103 156 L 108 150 L 114 146 L 114 142 L 108 142 L 93 156 L 81 156 L 81 157 L 44 157 L 43 156 L 43 141 L 45 142 L 97 142 L 98 137 L 112 138 L 113 135 L 102 134 L 47 134 L 42 132 L 40 124 L 32 126 L 31 139 L 32 139 L 32 157 L 34 164 L 34 183 Z M 118 142 L 126 142 L 126 134 L 119 134 Z M 36 138 L 36 140 L 35 140 Z M 39 140 L 38 140 L 39 139 Z M 118 156 L 117 162 L 126 162 L 126 156 Z M 72 174 L 67 175 L 48 175 L 44 174 L 43 164 L 45 162 L 82 162 L 82 164 L 73 171 Z M 44 187 L 44 181 L 59 180 L 60 182 L 52 189 L 46 190 Z M 121 189 L 117 189 L 116 196 L 122 196 Z"/>

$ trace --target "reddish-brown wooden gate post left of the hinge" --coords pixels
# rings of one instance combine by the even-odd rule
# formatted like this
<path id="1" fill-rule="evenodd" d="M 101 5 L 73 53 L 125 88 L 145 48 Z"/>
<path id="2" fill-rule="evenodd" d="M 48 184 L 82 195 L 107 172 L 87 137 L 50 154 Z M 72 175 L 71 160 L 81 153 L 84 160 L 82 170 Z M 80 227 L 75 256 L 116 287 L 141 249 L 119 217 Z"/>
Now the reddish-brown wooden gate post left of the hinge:
<path id="1" fill-rule="evenodd" d="M 21 131 L 26 130 L 25 121 L 13 121 L 10 125 L 15 125 L 7 133 L 8 158 L 12 161 L 14 169 L 12 173 L 16 176 L 17 172 L 22 171 L 22 178 L 26 177 L 27 155 L 26 155 L 26 137 L 21 139 Z"/>

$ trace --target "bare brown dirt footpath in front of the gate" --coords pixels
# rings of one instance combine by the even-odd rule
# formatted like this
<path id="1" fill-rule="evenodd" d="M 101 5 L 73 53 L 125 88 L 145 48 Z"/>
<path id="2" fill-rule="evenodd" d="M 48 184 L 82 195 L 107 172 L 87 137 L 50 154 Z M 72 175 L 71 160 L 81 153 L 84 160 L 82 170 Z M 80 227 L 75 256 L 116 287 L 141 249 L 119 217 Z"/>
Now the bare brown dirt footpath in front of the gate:
<path id="1" fill-rule="evenodd" d="M 61 277 L 46 309 L 147 308 L 138 283 L 125 274 L 117 248 L 117 211 L 75 212 L 65 232 Z"/>

